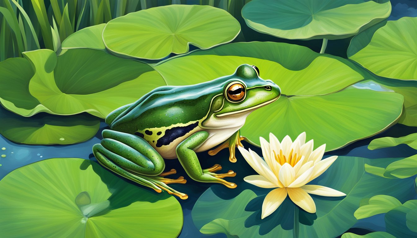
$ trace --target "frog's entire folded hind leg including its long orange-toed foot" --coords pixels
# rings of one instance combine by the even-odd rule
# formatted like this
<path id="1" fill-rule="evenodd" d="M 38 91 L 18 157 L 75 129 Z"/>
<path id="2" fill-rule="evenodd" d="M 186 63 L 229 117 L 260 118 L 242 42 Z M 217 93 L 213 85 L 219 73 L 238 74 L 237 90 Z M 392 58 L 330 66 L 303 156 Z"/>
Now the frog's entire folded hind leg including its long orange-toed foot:
<path id="1" fill-rule="evenodd" d="M 181 176 L 178 179 L 164 178 L 176 173 L 171 170 L 162 173 L 165 162 L 159 153 L 141 137 L 113 130 L 103 130 L 103 140 L 93 146 L 93 153 L 98 162 L 119 175 L 141 185 L 153 188 L 158 193 L 162 190 L 177 195 L 182 199 L 188 195 L 169 187 L 169 183 L 186 183 Z"/>

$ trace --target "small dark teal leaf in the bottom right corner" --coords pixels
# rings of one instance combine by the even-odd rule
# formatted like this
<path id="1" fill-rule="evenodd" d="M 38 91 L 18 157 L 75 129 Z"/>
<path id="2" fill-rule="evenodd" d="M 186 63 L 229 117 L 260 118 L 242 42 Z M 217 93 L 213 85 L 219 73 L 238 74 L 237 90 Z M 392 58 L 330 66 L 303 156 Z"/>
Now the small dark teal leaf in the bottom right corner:
<path id="1" fill-rule="evenodd" d="M 395 237 L 417 237 L 417 230 L 410 230 L 407 224 L 407 215 L 417 208 L 417 200 L 409 200 L 403 205 L 390 210 L 385 214 L 385 225 L 387 232 Z M 417 225 L 417 224 L 415 224 Z"/>

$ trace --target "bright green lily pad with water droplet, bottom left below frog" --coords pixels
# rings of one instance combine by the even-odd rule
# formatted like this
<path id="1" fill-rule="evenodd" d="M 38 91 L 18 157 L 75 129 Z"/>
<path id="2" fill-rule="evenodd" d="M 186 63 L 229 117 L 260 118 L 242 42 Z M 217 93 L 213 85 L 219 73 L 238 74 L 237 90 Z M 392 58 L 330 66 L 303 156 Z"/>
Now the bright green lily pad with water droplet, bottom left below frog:
<path id="1" fill-rule="evenodd" d="M 127 183 L 98 163 L 54 158 L 0 181 L 2 237 L 176 237 L 181 205 Z M 163 227 L 163 229 L 161 229 Z"/>

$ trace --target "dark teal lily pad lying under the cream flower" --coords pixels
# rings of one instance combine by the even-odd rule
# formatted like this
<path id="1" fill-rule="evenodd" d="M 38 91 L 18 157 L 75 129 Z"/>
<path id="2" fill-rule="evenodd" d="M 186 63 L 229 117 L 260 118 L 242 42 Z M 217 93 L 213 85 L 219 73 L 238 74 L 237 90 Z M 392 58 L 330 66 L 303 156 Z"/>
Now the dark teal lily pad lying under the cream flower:
<path id="1" fill-rule="evenodd" d="M 323 175 L 311 182 L 347 194 L 342 198 L 312 195 L 317 213 L 299 210 L 287 198 L 274 213 L 261 219 L 262 202 L 270 189 L 256 190 L 256 193 L 244 190 L 230 198 L 224 191 L 216 191 L 212 187 L 194 205 L 191 212 L 193 222 L 202 233 L 225 233 L 234 238 L 292 237 L 294 227 L 298 229 L 299 237 L 336 237 L 357 222 L 353 214 L 362 198 L 383 193 L 395 195 L 404 202 L 414 196 L 412 178 L 404 181 L 369 175 L 364 170 L 364 163 L 384 166 L 387 159 L 339 157 Z M 253 185 L 247 186 L 254 188 Z M 294 212 L 298 213 L 296 225 Z"/>

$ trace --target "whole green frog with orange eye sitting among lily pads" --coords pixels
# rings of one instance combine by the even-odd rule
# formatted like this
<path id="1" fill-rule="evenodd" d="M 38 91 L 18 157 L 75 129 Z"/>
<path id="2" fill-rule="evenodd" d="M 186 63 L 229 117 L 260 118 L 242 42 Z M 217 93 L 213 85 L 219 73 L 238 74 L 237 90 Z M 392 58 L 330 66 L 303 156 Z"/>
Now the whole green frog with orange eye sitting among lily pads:
<path id="1" fill-rule="evenodd" d="M 215 173 L 222 169 L 219 164 L 202 169 L 196 153 L 208 150 L 216 155 L 229 148 L 229 161 L 236 162 L 235 148 L 243 147 L 246 139 L 240 135 L 246 117 L 281 95 L 279 86 L 259 73 L 256 66 L 244 64 L 232 75 L 211 81 L 151 90 L 106 117 L 109 129 L 103 130 L 100 144 L 93 145 L 95 158 L 118 175 L 181 199 L 188 195 L 169 184 L 186 179 L 166 178 L 176 170 L 163 172 L 164 159 L 178 159 L 193 180 L 236 188 L 224 179 L 234 177 L 233 170 Z"/>

